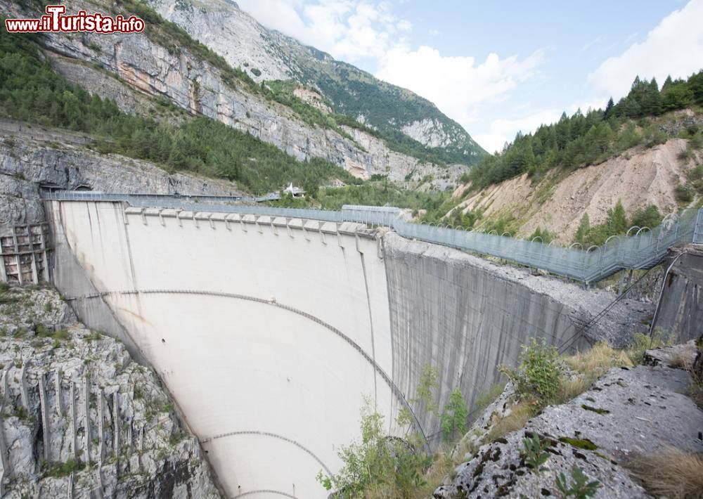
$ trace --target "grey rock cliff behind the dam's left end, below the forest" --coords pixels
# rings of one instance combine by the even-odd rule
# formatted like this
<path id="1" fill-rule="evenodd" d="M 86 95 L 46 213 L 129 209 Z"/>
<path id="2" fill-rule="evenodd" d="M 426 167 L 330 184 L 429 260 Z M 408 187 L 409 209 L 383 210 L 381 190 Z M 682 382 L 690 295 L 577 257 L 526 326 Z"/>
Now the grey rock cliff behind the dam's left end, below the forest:
<path id="1" fill-rule="evenodd" d="M 239 195 L 233 183 L 169 174 L 154 164 L 90 150 L 90 138 L 0 122 L 0 227 L 44 221 L 40 186 L 108 193 Z"/>

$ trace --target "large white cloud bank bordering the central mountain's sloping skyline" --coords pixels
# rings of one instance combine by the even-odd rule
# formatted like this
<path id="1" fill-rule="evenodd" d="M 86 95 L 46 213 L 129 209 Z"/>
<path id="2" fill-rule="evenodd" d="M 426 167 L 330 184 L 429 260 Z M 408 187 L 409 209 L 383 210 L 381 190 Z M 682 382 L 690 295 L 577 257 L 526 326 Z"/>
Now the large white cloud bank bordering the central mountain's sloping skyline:
<path id="1" fill-rule="evenodd" d="M 489 105 L 508 98 L 520 83 L 536 74 L 543 51 L 520 58 L 491 53 L 485 60 L 442 56 L 437 48 L 411 50 L 409 20 L 396 17 L 387 1 L 378 0 L 238 0 L 240 7 L 266 27 L 280 30 L 354 63 L 375 60 L 376 76 L 423 96 L 449 117 L 470 129 Z M 430 30 L 431 37 L 439 34 Z M 486 113 L 487 114 L 487 113 Z M 503 120 L 505 121 L 505 120 Z M 515 125 L 517 126 L 517 124 Z M 513 127 L 514 128 L 514 127 Z M 496 121 L 477 141 L 491 150 L 508 134 L 508 124 Z"/>

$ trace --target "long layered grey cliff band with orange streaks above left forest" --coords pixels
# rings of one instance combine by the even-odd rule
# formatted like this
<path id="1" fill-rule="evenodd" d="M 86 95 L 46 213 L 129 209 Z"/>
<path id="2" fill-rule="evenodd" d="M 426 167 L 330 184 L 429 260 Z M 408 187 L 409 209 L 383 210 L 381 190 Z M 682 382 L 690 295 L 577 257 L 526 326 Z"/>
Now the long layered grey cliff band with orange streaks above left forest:
<path id="1" fill-rule="evenodd" d="M 71 8 L 105 10 L 85 1 Z M 7 0 L 0 0 L 0 11 L 13 17 L 37 15 Z M 245 84 L 226 82 L 220 70 L 194 56 L 188 47 L 170 47 L 169 52 L 157 38 L 155 34 L 150 38 L 146 34 L 48 33 L 41 43 L 67 79 L 115 99 L 123 110 L 146 114 L 146 104 L 152 100 L 145 97 L 163 97 L 193 115 L 247 131 L 299 160 L 322 157 L 360 178 L 413 169 L 446 175 L 443 167 L 393 153 L 383 141 L 361 131 L 365 141 L 374 143 L 373 151 L 332 129 L 306 124 L 292 109 L 247 91 Z M 392 176 L 404 180 L 404 174 Z"/>

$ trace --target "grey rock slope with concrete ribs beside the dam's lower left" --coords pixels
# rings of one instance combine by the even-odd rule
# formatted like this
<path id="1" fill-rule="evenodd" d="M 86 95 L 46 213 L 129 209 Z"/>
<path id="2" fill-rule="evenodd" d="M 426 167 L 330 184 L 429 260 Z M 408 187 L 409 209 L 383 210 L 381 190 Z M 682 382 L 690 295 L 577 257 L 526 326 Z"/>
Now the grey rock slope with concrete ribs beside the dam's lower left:
<path id="1" fill-rule="evenodd" d="M 55 291 L 1 291 L 0 331 L 3 497 L 220 497 L 153 373 Z"/>

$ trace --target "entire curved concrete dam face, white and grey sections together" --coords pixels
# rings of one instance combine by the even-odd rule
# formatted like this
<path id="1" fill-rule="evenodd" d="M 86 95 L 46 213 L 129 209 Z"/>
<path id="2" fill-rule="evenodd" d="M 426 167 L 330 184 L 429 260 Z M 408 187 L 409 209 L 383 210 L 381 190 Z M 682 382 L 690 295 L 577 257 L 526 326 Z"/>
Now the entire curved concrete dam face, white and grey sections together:
<path id="1" fill-rule="evenodd" d="M 576 286 L 541 291 L 354 223 L 46 207 L 56 286 L 160 375 L 228 497 L 325 498 L 315 476 L 339 469 L 365 399 L 401 434 L 425 365 L 440 406 L 455 387 L 471 403 L 530 337 L 577 346 L 600 311 Z M 436 418 L 409 406 L 436 441 Z"/>

